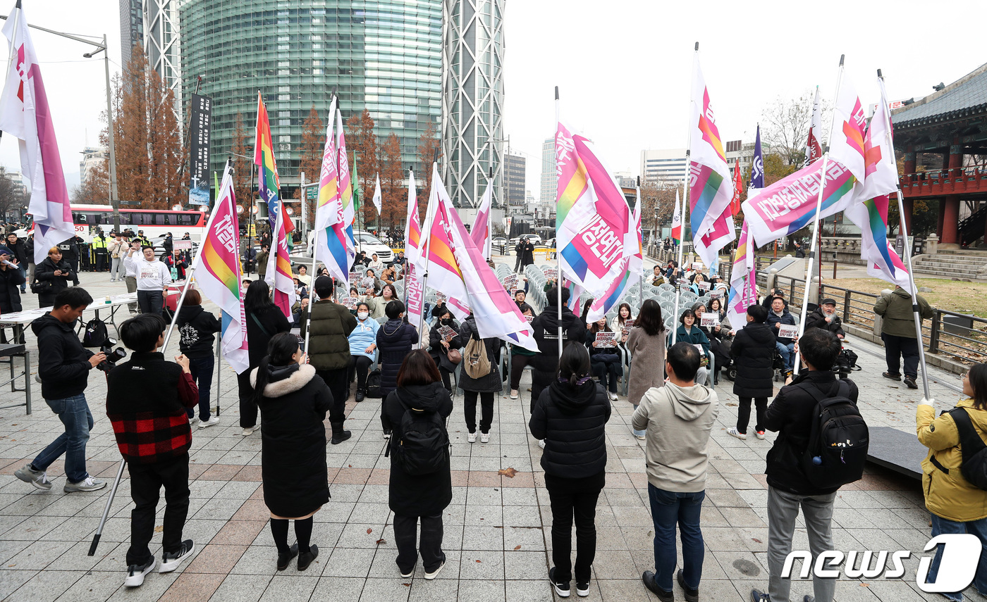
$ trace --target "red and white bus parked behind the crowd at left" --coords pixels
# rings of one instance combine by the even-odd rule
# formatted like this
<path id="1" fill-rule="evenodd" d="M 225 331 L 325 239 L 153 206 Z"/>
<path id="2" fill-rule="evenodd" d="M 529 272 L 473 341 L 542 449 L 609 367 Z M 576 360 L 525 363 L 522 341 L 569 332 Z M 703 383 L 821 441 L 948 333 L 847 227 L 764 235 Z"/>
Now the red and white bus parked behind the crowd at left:
<path id="1" fill-rule="evenodd" d="M 109 235 L 114 230 L 114 209 L 110 205 L 72 204 L 72 222 L 75 232 L 89 239 L 100 228 Z M 200 240 L 205 232 L 208 214 L 201 211 L 173 211 L 170 209 L 120 208 L 120 230 L 144 231 L 148 239 L 172 233 L 176 240 L 189 233 L 192 240 Z"/>

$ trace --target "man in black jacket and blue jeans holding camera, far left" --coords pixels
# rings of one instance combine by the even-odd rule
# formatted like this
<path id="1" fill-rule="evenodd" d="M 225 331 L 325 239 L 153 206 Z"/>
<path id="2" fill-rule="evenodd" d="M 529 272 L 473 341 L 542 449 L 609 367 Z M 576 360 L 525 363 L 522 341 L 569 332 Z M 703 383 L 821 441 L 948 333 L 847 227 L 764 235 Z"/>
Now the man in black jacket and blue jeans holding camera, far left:
<path id="1" fill-rule="evenodd" d="M 54 306 L 31 323 L 38 337 L 38 376 L 41 396 L 65 425 L 65 433 L 51 441 L 33 461 L 18 469 L 18 479 L 38 489 L 51 489 L 47 467 L 65 454 L 64 492 L 94 492 L 106 487 L 86 472 L 86 441 L 93 429 L 93 414 L 86 403 L 89 370 L 107 359 L 79 342 L 72 327 L 93 298 L 85 289 L 71 287 L 55 296 Z"/>

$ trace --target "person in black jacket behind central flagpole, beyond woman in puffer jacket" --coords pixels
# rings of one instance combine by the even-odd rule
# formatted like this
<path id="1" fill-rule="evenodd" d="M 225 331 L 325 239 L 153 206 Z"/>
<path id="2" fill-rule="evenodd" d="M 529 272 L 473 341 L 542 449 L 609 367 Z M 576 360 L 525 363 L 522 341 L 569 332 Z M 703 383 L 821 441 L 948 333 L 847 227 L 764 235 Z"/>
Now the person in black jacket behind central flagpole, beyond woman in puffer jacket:
<path id="1" fill-rule="evenodd" d="M 559 369 L 559 324 L 562 323 L 563 346 L 569 342 L 582 343 L 586 340 L 586 322 L 572 313 L 569 305 L 569 289 L 562 290 L 562 319 L 559 319 L 559 291 L 549 289 L 548 305 L 535 319 L 531 327 L 535 331 L 535 342 L 538 343 L 538 353 L 531 358 L 531 409 L 534 411 L 535 402 L 552 380 Z"/>

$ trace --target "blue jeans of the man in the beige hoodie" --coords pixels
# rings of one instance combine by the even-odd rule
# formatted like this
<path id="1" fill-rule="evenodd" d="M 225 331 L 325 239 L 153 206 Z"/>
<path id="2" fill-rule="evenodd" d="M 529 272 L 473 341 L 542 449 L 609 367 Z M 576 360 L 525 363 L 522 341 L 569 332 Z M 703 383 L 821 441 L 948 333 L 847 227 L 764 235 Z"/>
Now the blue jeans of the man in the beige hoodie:
<path id="1" fill-rule="evenodd" d="M 675 574 L 675 525 L 682 535 L 682 577 L 691 589 L 699 588 L 703 577 L 703 531 L 699 516 L 706 492 L 681 494 L 666 492 L 647 484 L 654 521 L 654 582 L 664 591 L 672 590 Z"/>

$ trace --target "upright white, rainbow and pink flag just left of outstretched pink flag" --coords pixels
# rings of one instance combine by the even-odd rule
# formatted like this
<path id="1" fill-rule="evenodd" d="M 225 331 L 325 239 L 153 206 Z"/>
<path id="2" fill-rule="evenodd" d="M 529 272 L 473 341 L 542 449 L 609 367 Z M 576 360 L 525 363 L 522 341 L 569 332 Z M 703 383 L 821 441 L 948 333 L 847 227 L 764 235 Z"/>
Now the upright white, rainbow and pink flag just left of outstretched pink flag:
<path id="1" fill-rule="evenodd" d="M 713 265 L 720 249 L 736 237 L 730 211 L 733 182 L 698 52 L 689 128 L 689 222 L 696 253 L 703 263 Z"/>

